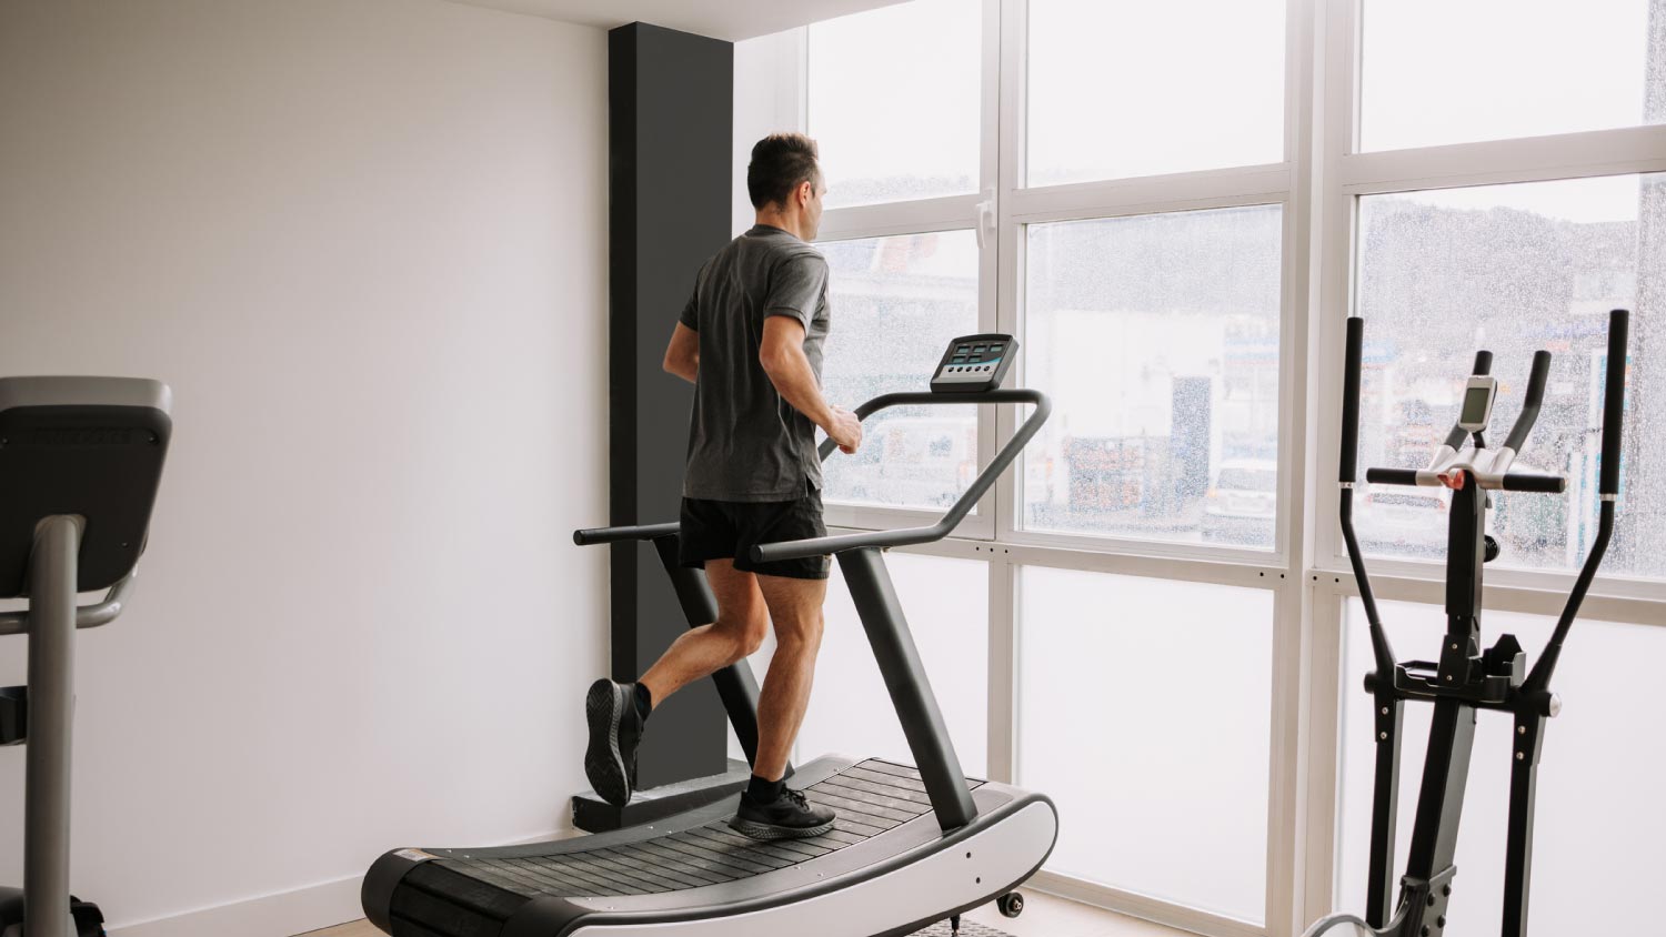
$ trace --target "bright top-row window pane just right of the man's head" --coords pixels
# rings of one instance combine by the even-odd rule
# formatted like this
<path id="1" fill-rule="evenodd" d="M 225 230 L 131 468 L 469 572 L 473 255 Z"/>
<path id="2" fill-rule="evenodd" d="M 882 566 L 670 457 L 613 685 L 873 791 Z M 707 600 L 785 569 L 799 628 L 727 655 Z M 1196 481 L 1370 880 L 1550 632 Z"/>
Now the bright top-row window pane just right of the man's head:
<path id="1" fill-rule="evenodd" d="M 981 18 L 976 0 L 913 0 L 810 27 L 830 208 L 978 190 Z"/>

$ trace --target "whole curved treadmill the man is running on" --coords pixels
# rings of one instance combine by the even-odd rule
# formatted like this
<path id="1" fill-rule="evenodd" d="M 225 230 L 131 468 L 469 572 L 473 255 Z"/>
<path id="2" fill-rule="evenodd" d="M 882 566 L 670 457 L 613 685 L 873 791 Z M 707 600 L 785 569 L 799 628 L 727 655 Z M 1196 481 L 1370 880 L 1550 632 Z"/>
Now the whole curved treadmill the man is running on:
<path id="1" fill-rule="evenodd" d="M 1053 850 L 1058 812 L 1041 794 L 970 779 L 885 568 L 893 546 L 943 539 L 1013 463 L 1051 411 L 1035 389 L 1000 389 L 1018 343 L 956 338 L 930 391 L 891 406 L 1031 404 L 1030 418 L 935 524 L 760 544 L 756 561 L 833 554 L 850 586 L 915 764 L 826 756 L 793 786 L 838 812 L 813 839 L 753 840 L 728 829 L 723 801 L 613 832 L 491 849 L 397 849 L 365 875 L 365 915 L 393 937 L 891 937 L 1011 894 Z M 826 459 L 831 441 L 821 444 Z M 716 617 L 706 581 L 675 564 L 678 524 L 576 531 L 578 544 L 651 541 L 691 622 Z M 740 662 L 713 674 L 748 761 L 756 756 L 756 684 Z"/>

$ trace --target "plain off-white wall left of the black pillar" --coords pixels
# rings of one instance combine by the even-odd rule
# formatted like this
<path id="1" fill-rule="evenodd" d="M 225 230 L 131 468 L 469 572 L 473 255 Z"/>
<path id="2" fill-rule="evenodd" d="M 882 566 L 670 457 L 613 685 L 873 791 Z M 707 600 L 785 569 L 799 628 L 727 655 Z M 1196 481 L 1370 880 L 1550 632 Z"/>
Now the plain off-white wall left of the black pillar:
<path id="1" fill-rule="evenodd" d="M 568 539 L 605 519 L 605 55 L 431 0 L 0 5 L 0 374 L 177 398 L 132 611 L 80 637 L 73 877 L 118 934 L 295 934 L 385 849 L 565 824 L 605 661 Z"/>

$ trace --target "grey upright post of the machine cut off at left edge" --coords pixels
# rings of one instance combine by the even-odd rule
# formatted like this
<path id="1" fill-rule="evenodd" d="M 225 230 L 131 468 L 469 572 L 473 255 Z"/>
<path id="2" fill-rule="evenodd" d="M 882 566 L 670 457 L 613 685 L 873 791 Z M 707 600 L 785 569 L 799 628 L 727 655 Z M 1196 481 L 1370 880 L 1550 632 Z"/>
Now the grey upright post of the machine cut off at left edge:
<path id="1" fill-rule="evenodd" d="M 80 546 L 82 523 L 53 516 L 37 528 L 30 554 L 23 937 L 75 937 L 70 920 L 70 729 Z"/>

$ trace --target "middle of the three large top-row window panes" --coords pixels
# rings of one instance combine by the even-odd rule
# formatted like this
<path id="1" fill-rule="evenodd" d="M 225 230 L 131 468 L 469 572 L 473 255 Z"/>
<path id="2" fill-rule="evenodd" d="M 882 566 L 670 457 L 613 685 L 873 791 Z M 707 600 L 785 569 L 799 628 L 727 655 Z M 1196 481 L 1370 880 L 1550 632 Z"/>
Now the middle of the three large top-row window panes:
<path id="1" fill-rule="evenodd" d="M 1030 0 L 1033 186 L 1278 163 L 1283 0 Z"/>

